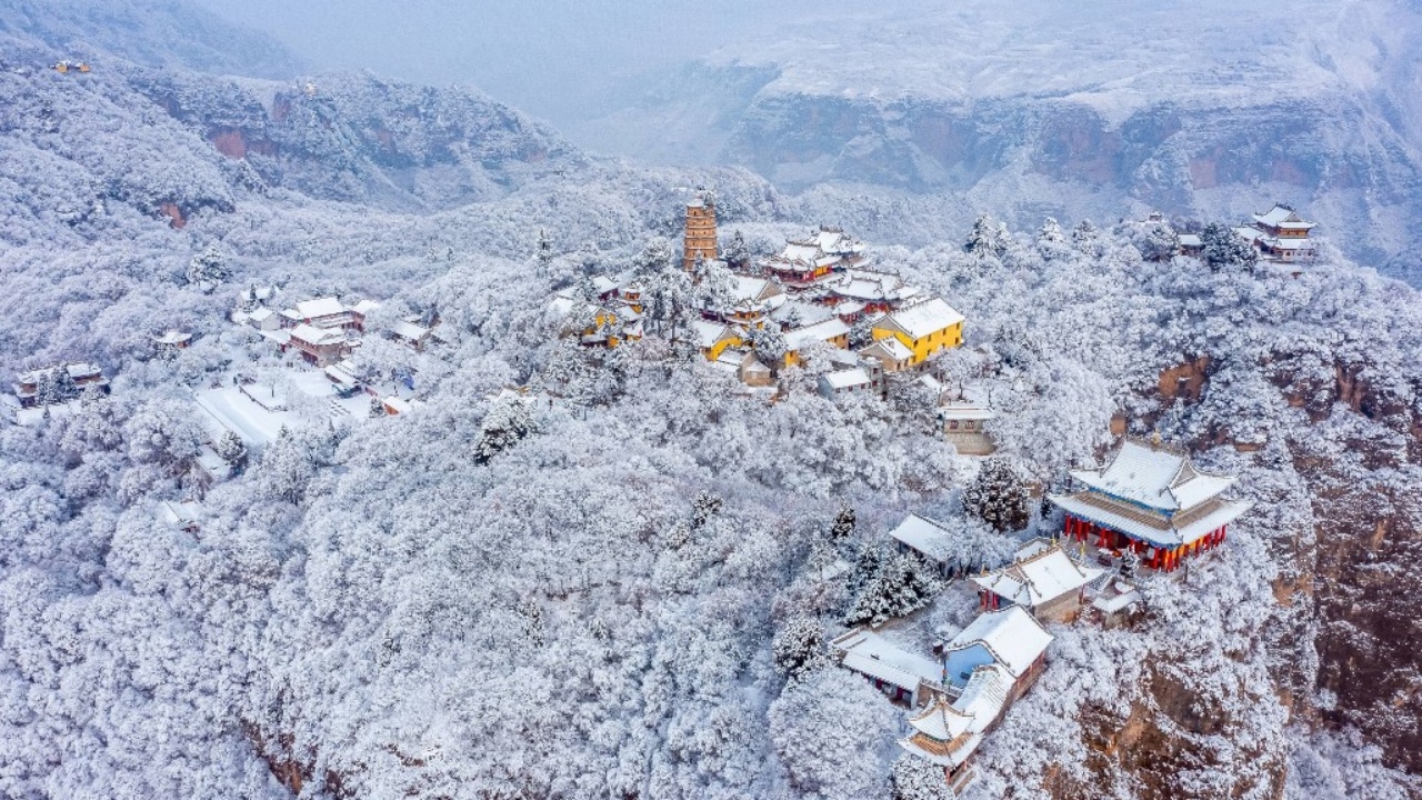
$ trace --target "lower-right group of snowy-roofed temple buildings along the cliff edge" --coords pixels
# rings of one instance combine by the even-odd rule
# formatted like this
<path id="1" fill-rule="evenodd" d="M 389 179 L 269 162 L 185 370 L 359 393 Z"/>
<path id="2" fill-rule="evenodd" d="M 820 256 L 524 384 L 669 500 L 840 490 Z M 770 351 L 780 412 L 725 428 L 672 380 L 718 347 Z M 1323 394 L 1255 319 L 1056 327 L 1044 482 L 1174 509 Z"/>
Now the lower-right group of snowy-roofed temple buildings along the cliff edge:
<path id="1" fill-rule="evenodd" d="M 1196 470 L 1158 443 L 1128 438 L 1101 468 L 1072 477 L 1081 491 L 1051 497 L 1066 512 L 1064 540 L 1031 540 L 1010 564 L 967 575 L 981 614 L 958 633 L 937 636 L 931 656 L 866 628 L 830 643 L 840 666 L 910 709 L 900 746 L 940 767 L 954 791 L 974 780 L 973 754 L 1041 675 L 1054 639 L 1045 623 L 1084 614 L 1103 625 L 1128 618 L 1142 606 L 1126 579 L 1133 567 L 1109 567 L 1130 559 L 1172 572 L 1223 542 L 1227 525 L 1249 510 L 1220 498 L 1233 477 Z M 889 535 L 940 575 L 961 574 L 961 548 L 947 525 L 910 514 Z"/>

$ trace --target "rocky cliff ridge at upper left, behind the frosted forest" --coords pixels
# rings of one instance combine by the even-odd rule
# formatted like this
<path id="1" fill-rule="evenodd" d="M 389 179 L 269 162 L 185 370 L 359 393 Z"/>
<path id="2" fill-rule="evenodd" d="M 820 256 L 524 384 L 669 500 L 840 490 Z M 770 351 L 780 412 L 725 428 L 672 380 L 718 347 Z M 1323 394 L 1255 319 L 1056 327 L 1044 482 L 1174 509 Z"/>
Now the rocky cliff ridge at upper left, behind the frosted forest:
<path id="1" fill-rule="evenodd" d="M 493 199 L 584 164 L 553 131 L 486 95 L 370 75 L 294 84 L 144 71 L 134 85 L 273 186 L 394 209 Z"/>

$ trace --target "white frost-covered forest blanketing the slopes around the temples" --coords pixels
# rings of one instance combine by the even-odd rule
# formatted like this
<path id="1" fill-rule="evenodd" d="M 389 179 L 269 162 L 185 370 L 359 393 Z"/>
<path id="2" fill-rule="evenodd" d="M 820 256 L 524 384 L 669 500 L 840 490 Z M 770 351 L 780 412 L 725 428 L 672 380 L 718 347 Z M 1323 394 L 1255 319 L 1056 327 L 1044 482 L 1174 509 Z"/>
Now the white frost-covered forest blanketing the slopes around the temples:
<path id="1" fill-rule="evenodd" d="M 907 409 L 830 403 L 801 367 L 765 403 L 668 344 L 695 290 L 664 243 L 675 186 L 715 184 L 755 252 L 799 226 L 793 204 L 744 172 L 594 164 L 401 215 L 243 178 L 117 73 L 11 70 L 0 93 L 0 369 L 92 359 L 114 379 L 46 424 L 0 423 L 0 794 L 887 791 L 900 712 L 838 668 L 786 680 L 776 666 L 816 660 L 815 633 L 836 635 L 846 608 L 875 621 L 936 596 L 882 547 L 906 511 L 961 534 L 950 558 L 966 569 L 1015 542 L 956 512 L 971 468 Z M 156 216 L 169 201 L 183 228 Z M 1153 262 L 1118 231 L 985 221 L 978 238 L 973 253 L 957 231 L 875 255 L 966 313 L 981 349 L 966 377 L 1024 478 L 1061 485 L 1094 463 L 1119 411 L 1240 474 L 1256 501 L 1180 582 L 1142 579 L 1140 626 L 1054 628 L 1045 675 L 984 744 L 983 796 L 1055 780 L 1089 797 L 1264 797 L 1290 763 L 1300 787 L 1357 791 L 1357 757 L 1290 746 L 1285 693 L 1378 743 L 1365 769 L 1391 774 L 1381 764 L 1416 752 L 1415 652 L 1396 643 L 1416 621 L 1368 614 L 1416 578 L 1401 558 L 1422 520 L 1411 290 L 1342 262 L 1297 279 Z M 186 270 L 210 248 L 232 278 L 205 293 Z M 559 340 L 555 290 L 621 270 L 648 282 L 647 337 Z M 226 322 L 237 289 L 273 283 L 280 302 L 438 316 L 427 352 L 361 347 L 419 404 L 340 424 L 294 409 L 301 424 L 205 488 L 193 391 L 233 372 L 292 377 Z M 154 359 L 166 327 L 193 344 Z M 1203 354 L 1197 401 L 1159 394 L 1162 369 Z M 488 400 L 523 384 L 547 391 Z M 198 495 L 196 534 L 161 521 L 159 501 Z M 1315 535 L 1327 520 L 1376 540 Z M 860 554 L 849 577 L 836 551 Z M 1386 692 L 1347 680 L 1358 651 L 1388 665 Z M 1118 735 L 1133 739 L 1108 747 Z M 1158 760 L 1130 760 L 1142 752 Z"/>

